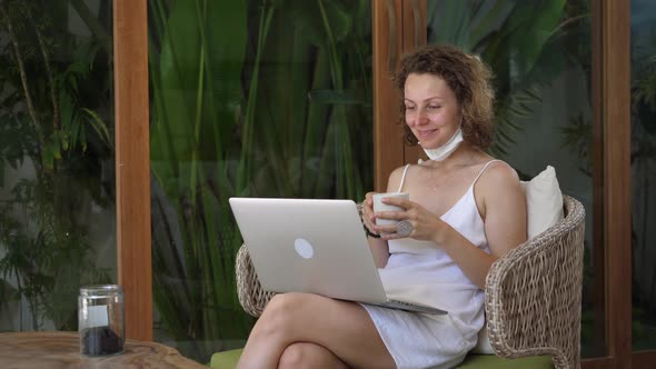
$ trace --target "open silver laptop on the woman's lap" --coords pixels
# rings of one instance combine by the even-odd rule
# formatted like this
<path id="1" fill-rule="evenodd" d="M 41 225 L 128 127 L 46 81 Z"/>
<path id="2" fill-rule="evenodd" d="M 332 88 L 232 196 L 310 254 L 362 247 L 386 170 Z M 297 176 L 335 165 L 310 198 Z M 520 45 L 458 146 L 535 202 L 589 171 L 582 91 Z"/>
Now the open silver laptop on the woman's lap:
<path id="1" fill-rule="evenodd" d="M 230 198 L 230 207 L 268 291 L 446 313 L 388 300 L 351 200 Z"/>

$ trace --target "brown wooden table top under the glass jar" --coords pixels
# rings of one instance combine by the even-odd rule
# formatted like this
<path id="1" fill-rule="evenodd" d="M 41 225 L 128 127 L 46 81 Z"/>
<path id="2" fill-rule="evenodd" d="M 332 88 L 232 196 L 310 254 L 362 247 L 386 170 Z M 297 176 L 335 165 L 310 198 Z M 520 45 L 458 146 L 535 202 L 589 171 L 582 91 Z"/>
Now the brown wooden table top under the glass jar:
<path id="1" fill-rule="evenodd" d="M 0 368 L 189 368 L 202 366 L 187 359 L 178 350 L 155 342 L 126 340 L 121 355 L 87 357 L 80 355 L 77 332 L 0 333 Z"/>

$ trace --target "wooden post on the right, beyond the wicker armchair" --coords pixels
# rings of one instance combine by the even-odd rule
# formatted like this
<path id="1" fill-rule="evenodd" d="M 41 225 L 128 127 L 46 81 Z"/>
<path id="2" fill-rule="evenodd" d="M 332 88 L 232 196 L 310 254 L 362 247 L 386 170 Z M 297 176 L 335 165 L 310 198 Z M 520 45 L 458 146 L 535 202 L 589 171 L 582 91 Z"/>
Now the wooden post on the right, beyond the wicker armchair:
<path id="1" fill-rule="evenodd" d="M 605 283 L 605 330 L 614 368 L 632 367 L 630 237 L 630 8 L 628 1 L 594 1 L 594 137 L 600 143 L 594 173 L 595 275 Z M 595 67 L 593 67 L 595 70 Z M 598 202 L 602 200 L 600 202 Z M 600 249 L 599 247 L 603 247 Z M 604 260 L 599 260 L 600 257 Z M 599 267 L 604 267 L 599 269 Z M 599 278 L 602 277 L 602 278 Z M 598 296 L 599 293 L 597 293 Z M 597 299 L 597 302 L 598 299 Z"/>

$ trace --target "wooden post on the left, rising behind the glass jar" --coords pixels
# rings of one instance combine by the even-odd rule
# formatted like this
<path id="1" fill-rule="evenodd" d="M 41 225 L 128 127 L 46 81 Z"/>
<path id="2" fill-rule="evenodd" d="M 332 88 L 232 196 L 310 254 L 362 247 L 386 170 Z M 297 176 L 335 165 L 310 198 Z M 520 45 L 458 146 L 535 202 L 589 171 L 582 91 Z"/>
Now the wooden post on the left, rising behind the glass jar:
<path id="1" fill-rule="evenodd" d="M 152 340 L 147 0 L 113 1 L 117 258 L 127 338 Z"/>

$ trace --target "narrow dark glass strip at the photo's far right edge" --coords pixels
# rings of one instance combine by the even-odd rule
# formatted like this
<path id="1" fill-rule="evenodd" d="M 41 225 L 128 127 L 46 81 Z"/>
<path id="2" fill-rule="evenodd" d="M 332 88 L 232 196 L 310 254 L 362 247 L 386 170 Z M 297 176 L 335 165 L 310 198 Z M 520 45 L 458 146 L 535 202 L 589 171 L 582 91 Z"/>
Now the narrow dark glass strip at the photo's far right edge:
<path id="1" fill-rule="evenodd" d="M 630 2 L 634 350 L 656 349 L 656 3 Z"/>

